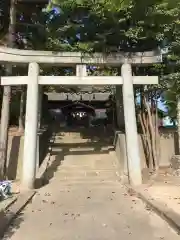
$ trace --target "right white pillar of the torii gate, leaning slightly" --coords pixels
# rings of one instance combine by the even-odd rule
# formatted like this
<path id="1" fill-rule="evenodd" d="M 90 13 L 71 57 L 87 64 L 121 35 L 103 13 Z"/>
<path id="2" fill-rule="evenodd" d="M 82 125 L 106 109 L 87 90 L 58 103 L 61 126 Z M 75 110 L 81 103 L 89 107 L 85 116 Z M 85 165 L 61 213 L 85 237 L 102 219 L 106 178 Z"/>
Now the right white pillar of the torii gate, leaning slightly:
<path id="1" fill-rule="evenodd" d="M 123 104 L 129 180 L 132 185 L 140 185 L 142 184 L 141 159 L 137 134 L 133 78 L 130 64 L 125 63 L 122 65 L 121 75 L 123 78 Z"/>

